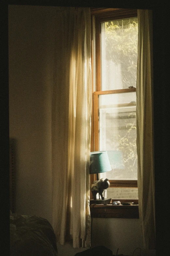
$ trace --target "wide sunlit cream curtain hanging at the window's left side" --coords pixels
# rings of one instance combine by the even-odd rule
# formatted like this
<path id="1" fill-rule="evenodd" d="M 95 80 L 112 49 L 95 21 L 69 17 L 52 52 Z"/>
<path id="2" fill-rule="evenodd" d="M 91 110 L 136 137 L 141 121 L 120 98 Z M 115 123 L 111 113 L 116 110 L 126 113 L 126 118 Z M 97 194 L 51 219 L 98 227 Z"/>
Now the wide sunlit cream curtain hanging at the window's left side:
<path id="1" fill-rule="evenodd" d="M 53 227 L 90 246 L 91 22 L 89 8 L 60 8 L 52 93 Z"/>

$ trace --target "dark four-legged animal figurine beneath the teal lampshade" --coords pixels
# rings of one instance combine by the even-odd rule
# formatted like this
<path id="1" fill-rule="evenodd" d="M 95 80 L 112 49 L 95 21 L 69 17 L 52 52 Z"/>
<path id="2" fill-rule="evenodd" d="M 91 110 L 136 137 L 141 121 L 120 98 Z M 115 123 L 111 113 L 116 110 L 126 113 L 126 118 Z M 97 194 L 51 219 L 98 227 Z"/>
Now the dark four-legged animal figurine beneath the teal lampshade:
<path id="1" fill-rule="evenodd" d="M 102 178 L 99 181 L 94 181 L 91 186 L 93 199 L 96 200 L 97 193 L 99 193 L 101 199 L 104 200 L 105 189 L 107 189 L 108 187 L 110 187 L 110 182 L 107 178 Z"/>

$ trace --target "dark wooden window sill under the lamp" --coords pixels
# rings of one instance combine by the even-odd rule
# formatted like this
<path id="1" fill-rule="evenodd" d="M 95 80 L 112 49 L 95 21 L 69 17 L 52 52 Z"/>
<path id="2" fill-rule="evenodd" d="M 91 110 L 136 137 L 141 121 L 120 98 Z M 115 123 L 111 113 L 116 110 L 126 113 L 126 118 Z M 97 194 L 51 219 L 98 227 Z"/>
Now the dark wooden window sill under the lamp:
<path id="1" fill-rule="evenodd" d="M 92 204 L 90 205 L 91 218 L 128 218 L 138 219 L 139 209 L 136 205 L 112 205 Z"/>

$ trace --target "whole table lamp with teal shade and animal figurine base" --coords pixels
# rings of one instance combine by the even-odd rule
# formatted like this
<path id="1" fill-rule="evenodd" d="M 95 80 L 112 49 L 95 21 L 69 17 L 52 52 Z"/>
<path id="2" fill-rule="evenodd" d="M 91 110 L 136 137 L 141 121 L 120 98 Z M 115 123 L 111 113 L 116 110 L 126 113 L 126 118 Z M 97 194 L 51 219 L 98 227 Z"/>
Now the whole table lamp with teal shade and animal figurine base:
<path id="1" fill-rule="evenodd" d="M 110 199 L 105 199 L 105 189 L 110 186 L 107 178 L 102 178 L 99 180 L 99 173 L 111 171 L 109 158 L 107 151 L 96 151 L 90 152 L 90 174 L 97 174 L 97 181 L 94 181 L 91 186 L 91 192 L 93 195 L 93 200 L 90 200 L 90 204 L 108 204 Z M 99 193 L 99 199 L 97 199 L 97 194 Z M 101 196 L 101 200 L 100 200 Z"/>

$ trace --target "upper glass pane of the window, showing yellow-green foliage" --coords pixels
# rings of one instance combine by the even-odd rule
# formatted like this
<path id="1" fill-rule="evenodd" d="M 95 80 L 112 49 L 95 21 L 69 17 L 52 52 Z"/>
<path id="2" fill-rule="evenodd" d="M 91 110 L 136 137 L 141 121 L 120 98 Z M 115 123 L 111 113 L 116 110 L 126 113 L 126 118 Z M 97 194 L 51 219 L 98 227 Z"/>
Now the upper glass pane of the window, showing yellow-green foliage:
<path id="1" fill-rule="evenodd" d="M 101 23 L 101 90 L 136 87 L 138 19 Z"/>

